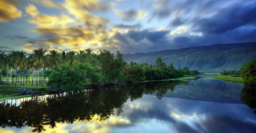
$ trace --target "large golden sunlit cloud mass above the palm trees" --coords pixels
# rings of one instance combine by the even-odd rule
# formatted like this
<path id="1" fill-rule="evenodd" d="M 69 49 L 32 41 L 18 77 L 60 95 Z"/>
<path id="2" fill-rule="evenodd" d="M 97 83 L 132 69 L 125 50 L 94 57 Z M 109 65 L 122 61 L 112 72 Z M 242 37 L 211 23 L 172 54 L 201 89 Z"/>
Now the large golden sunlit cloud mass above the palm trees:
<path id="1" fill-rule="evenodd" d="M 31 32 L 42 34 L 39 42 L 53 45 L 53 48 L 50 49 L 60 49 L 60 46 L 65 50 L 111 48 L 113 46 L 112 43 L 115 42 L 110 39 L 111 33 L 106 30 L 108 21 L 99 16 L 94 16 L 88 11 L 106 10 L 106 5 L 100 2 L 66 0 L 62 5 L 69 15 L 75 16 L 75 19 L 69 15 L 40 14 L 37 7 L 29 3 L 26 6 L 26 12 L 32 18 L 28 22 L 38 27 Z M 31 44 L 22 45 L 20 48 L 27 51 L 31 50 L 29 45 Z"/>

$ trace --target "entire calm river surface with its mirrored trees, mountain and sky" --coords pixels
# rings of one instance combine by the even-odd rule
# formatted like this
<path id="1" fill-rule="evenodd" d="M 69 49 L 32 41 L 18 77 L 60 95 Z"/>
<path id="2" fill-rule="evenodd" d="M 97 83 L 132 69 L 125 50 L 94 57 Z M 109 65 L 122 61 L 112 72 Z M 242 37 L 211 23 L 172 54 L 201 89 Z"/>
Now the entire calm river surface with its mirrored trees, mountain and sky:
<path id="1" fill-rule="evenodd" d="M 0 132 L 255 132 L 242 89 L 205 77 L 7 100 Z"/>

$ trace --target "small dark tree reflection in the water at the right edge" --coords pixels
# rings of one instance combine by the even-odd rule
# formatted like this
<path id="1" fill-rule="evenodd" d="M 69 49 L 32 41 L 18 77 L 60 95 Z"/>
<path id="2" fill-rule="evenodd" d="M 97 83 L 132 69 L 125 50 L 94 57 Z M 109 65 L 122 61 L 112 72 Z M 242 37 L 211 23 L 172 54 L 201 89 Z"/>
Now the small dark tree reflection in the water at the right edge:
<path id="1" fill-rule="evenodd" d="M 256 114 L 256 84 L 247 83 L 241 91 L 241 100 Z"/>

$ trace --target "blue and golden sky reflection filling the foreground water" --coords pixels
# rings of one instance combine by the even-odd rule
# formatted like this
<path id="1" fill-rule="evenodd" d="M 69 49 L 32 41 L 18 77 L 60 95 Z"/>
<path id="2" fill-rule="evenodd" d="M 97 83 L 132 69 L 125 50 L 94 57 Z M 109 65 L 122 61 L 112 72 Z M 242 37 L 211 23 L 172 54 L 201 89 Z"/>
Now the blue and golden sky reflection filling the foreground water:
<path id="1" fill-rule="evenodd" d="M 116 113 L 115 113 L 116 114 Z M 44 132 L 253 132 L 256 115 L 243 104 L 194 101 L 144 95 L 127 101 L 123 113 L 99 122 L 57 123 L 58 128 Z M 7 128 L 14 132 L 32 128 Z M 2 132 L 3 129 L 0 129 Z"/>

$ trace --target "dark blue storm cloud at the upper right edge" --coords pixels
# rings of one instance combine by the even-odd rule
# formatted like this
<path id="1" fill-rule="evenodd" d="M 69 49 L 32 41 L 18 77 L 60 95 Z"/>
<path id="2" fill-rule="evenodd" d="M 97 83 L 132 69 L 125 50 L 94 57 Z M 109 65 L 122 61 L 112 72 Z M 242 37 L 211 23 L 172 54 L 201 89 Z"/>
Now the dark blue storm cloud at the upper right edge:
<path id="1" fill-rule="evenodd" d="M 242 26 L 256 26 L 256 7 L 237 5 L 219 11 L 212 18 L 192 20 L 196 31 L 203 33 L 220 34 Z"/>

